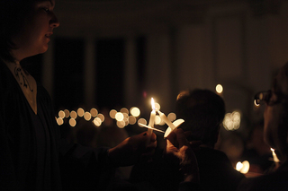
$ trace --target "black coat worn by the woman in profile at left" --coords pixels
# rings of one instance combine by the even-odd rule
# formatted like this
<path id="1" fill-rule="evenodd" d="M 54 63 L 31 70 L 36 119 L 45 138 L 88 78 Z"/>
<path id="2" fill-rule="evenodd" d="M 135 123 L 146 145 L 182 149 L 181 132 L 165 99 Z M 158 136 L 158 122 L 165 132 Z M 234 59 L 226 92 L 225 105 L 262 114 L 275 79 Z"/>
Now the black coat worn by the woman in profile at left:
<path id="1" fill-rule="evenodd" d="M 107 149 L 60 139 L 49 93 L 37 85 L 35 115 L 0 59 L 0 190 L 102 190 L 112 176 Z"/>

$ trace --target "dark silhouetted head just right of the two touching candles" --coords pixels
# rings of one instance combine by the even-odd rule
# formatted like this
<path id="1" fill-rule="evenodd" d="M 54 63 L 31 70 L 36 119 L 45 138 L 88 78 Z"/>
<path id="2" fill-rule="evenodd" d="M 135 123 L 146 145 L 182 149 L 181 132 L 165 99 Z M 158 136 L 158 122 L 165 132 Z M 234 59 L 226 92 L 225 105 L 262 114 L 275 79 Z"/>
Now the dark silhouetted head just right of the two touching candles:
<path id="1" fill-rule="evenodd" d="M 219 95 L 200 89 L 182 91 L 177 96 L 175 113 L 177 118 L 184 119 L 181 128 L 191 131 L 193 140 L 211 145 L 217 142 L 225 116 L 225 104 Z"/>

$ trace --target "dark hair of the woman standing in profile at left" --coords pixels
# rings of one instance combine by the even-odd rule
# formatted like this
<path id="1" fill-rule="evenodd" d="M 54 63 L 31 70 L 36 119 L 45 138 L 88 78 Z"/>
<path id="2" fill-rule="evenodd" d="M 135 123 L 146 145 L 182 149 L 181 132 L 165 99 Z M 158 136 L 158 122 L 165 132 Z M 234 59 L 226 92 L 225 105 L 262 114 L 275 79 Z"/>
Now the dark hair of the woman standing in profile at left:
<path id="1" fill-rule="evenodd" d="M 19 34 L 31 13 L 33 4 L 43 0 L 0 0 L 0 57 L 14 61 L 12 39 Z"/>

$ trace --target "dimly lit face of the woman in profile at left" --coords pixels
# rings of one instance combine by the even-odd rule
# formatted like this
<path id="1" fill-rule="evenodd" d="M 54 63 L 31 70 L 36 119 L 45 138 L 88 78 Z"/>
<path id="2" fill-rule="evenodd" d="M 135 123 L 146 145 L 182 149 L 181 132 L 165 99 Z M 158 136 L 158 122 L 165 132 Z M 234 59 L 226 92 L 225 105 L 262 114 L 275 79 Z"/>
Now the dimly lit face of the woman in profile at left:
<path id="1" fill-rule="evenodd" d="M 55 0 L 34 4 L 23 32 L 14 38 L 17 49 L 13 53 L 18 61 L 47 51 L 53 29 L 59 25 L 53 13 L 54 6 Z"/>

